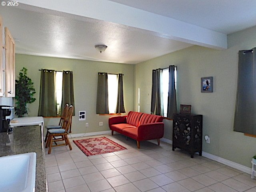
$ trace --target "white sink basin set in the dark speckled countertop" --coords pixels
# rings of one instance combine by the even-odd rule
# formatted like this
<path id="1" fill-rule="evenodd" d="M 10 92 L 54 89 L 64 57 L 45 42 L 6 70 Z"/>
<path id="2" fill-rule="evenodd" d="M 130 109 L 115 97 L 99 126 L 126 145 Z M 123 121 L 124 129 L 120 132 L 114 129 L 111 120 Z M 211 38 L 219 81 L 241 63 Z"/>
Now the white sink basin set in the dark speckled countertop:
<path id="1" fill-rule="evenodd" d="M 0 157 L 0 191 L 34 192 L 36 153 Z"/>

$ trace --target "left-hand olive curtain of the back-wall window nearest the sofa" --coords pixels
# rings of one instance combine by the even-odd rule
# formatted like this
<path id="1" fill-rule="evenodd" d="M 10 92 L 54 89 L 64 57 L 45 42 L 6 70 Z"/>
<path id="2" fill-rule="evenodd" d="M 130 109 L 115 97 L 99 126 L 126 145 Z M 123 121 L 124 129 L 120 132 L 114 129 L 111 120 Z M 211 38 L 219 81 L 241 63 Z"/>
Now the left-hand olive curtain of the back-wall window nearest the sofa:
<path id="1" fill-rule="evenodd" d="M 108 73 L 98 73 L 96 114 L 109 114 Z"/>

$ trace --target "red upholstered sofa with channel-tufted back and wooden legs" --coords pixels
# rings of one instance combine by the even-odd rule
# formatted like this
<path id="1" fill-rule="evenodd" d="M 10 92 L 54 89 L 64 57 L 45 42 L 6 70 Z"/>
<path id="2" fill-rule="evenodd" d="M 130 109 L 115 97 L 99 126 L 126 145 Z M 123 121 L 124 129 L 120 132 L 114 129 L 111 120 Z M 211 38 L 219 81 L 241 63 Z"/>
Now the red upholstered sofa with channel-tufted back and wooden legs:
<path id="1" fill-rule="evenodd" d="M 119 132 L 137 141 L 140 148 L 140 141 L 157 139 L 160 145 L 160 138 L 164 136 L 164 117 L 130 111 L 128 115 L 112 116 L 108 119 L 108 125 L 112 130 Z"/>

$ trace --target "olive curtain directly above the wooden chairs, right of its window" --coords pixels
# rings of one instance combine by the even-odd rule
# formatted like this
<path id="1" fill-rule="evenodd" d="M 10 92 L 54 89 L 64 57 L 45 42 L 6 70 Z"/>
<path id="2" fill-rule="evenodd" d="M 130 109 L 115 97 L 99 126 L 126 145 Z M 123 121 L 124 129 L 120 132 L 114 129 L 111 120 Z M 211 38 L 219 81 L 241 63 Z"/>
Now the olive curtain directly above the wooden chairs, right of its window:
<path id="1" fill-rule="evenodd" d="M 69 104 L 73 106 L 73 116 L 75 115 L 75 100 L 74 100 L 74 85 L 73 85 L 73 72 L 63 71 L 62 72 L 62 102 L 61 108 Z M 63 111 L 63 110 L 62 110 Z"/>

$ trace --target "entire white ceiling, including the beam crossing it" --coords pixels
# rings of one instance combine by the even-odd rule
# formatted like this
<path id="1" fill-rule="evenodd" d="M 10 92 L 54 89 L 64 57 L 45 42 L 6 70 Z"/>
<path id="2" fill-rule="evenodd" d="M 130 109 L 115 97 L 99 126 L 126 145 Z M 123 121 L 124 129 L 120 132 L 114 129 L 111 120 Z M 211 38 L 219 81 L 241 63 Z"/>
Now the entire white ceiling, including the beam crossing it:
<path id="1" fill-rule="evenodd" d="M 136 64 L 193 44 L 223 49 L 225 34 L 256 25 L 256 1 L 248 0 L 20 2 L 0 6 L 4 26 L 17 53 L 40 56 Z M 100 54 L 96 44 L 108 48 Z"/>

